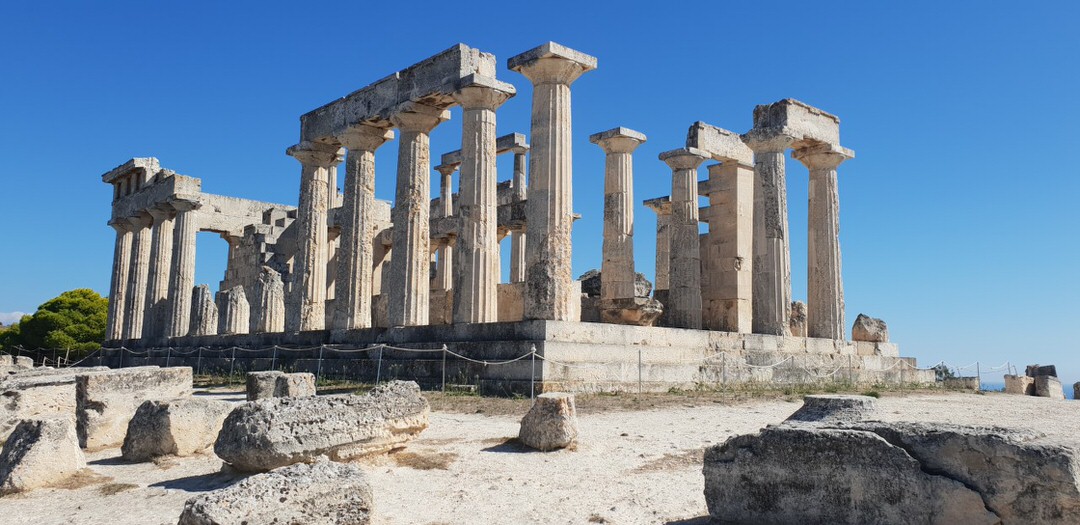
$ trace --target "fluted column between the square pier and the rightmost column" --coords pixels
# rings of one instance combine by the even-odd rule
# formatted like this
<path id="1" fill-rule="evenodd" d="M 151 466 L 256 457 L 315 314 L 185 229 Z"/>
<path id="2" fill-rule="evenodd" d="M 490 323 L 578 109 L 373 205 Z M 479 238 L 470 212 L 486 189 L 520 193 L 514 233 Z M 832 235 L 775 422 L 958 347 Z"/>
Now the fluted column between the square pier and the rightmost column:
<path id="1" fill-rule="evenodd" d="M 787 238 L 786 135 L 744 136 L 754 150 L 755 334 L 787 335 L 792 308 L 792 253 Z"/>

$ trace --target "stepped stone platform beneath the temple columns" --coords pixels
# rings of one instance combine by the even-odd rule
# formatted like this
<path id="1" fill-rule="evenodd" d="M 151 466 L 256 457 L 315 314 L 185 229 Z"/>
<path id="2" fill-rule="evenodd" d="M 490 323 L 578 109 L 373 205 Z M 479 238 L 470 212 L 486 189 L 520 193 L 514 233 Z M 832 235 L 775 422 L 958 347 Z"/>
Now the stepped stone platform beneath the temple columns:
<path id="1" fill-rule="evenodd" d="M 375 345 L 410 350 L 359 350 Z M 285 369 L 415 380 L 428 389 L 469 385 L 491 395 L 934 381 L 933 371 L 917 369 L 914 358 L 887 342 L 559 321 L 189 336 L 167 347 L 110 341 L 85 364 L 183 365 L 197 374 Z"/>

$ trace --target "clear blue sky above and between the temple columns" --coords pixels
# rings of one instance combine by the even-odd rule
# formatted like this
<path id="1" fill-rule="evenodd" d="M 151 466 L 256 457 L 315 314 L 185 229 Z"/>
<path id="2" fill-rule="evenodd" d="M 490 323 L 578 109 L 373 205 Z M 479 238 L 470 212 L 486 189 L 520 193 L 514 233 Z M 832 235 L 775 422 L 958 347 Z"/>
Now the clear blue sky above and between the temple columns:
<path id="1" fill-rule="evenodd" d="M 599 58 L 573 85 L 577 273 L 599 265 L 603 154 L 589 134 L 648 135 L 635 157 L 642 200 L 670 192 L 657 154 L 691 122 L 743 132 L 756 104 L 798 98 L 838 115 L 858 153 L 840 167 L 849 328 L 865 312 L 922 364 L 1056 363 L 1080 379 L 1080 3 L 524 5 L 4 2 L 0 312 L 108 292 L 99 175 L 132 157 L 208 192 L 295 203 L 300 170 L 284 149 L 305 111 L 463 42 L 495 53 L 517 86 L 499 132 L 527 133 L 530 88 L 505 59 L 554 40 Z M 435 130 L 434 153 L 459 147 L 459 122 L 455 111 Z M 383 199 L 395 154 L 395 143 L 379 150 Z M 509 159 L 499 167 L 509 178 Z M 806 186 L 789 160 L 796 298 Z M 638 207 L 637 264 L 650 277 L 653 231 Z M 199 282 L 216 286 L 225 243 L 204 233 L 199 251 Z"/>

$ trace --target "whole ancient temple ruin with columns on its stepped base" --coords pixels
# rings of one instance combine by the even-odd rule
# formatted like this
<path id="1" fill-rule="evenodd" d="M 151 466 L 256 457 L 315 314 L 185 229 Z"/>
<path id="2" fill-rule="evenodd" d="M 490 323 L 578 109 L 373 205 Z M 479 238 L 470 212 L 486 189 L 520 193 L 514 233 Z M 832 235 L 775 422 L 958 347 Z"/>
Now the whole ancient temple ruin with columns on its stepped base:
<path id="1" fill-rule="evenodd" d="M 117 231 L 106 346 L 445 345 L 474 361 L 459 373 L 510 390 L 779 380 L 783 368 L 768 365 L 781 361 L 810 376 L 846 366 L 854 380 L 926 378 L 894 345 L 845 337 L 837 167 L 854 153 L 840 145 L 837 117 L 784 99 L 755 108 L 743 134 L 690 125 L 686 143 L 660 156 L 671 194 L 645 201 L 658 215 L 651 296 L 636 286 L 633 251 L 633 152 L 647 137 L 593 134 L 602 151 L 585 154 L 604 154 L 606 167 L 602 284 L 590 297 L 571 272 L 570 86 L 597 59 L 551 42 L 507 68 L 532 83 L 528 135 L 498 136 L 498 109 L 515 89 L 496 78 L 494 55 L 463 44 L 301 116 L 285 151 L 300 163 L 296 206 L 204 193 L 200 179 L 152 158 L 103 175 Z M 432 166 L 429 136 L 450 125 L 455 106 L 461 149 Z M 390 203 L 375 198 L 375 161 L 394 139 Z M 787 150 L 810 170 L 807 314 L 794 332 Z M 499 184 L 503 153 L 514 171 Z M 215 295 L 194 282 L 199 231 L 229 244 Z M 500 283 L 508 235 L 511 278 Z M 475 364 L 532 349 L 539 362 Z M 429 356 L 396 359 L 422 382 Z"/>

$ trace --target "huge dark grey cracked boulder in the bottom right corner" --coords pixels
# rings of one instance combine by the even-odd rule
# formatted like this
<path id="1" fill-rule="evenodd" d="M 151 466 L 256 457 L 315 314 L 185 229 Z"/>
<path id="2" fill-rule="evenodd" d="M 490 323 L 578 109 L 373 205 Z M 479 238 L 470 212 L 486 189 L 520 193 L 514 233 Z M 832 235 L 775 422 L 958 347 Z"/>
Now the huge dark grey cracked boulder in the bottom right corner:
<path id="1" fill-rule="evenodd" d="M 1008 429 L 785 423 L 706 450 L 724 523 L 1080 523 L 1080 460 Z"/>

